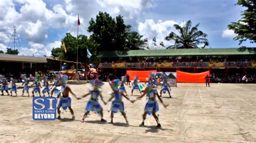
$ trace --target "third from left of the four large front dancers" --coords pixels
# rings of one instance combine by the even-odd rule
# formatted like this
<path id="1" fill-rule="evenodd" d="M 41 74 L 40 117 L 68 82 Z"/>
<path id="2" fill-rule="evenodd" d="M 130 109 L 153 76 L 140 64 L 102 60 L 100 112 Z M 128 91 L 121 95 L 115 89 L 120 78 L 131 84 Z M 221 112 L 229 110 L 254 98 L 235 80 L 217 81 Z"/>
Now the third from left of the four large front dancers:
<path id="1" fill-rule="evenodd" d="M 110 94 L 111 97 L 107 101 L 107 102 L 110 102 L 114 98 L 114 101 L 111 104 L 111 115 L 110 115 L 111 121 L 110 121 L 110 123 L 113 124 L 114 113 L 117 113 L 118 111 L 120 111 L 125 118 L 126 124 L 129 125 L 129 121 L 126 117 L 126 113 L 124 112 L 124 102 L 122 101 L 122 97 L 126 98 L 130 102 L 131 102 L 131 100 L 129 99 L 129 97 L 124 95 L 124 93 L 122 91 L 120 91 L 120 89 L 118 89 L 119 84 L 120 84 L 119 79 L 113 80 L 111 83 L 111 88 L 112 88 L 113 92 L 111 92 L 111 94 Z M 106 103 L 105 103 L 105 105 L 106 105 Z"/>

